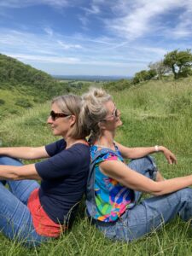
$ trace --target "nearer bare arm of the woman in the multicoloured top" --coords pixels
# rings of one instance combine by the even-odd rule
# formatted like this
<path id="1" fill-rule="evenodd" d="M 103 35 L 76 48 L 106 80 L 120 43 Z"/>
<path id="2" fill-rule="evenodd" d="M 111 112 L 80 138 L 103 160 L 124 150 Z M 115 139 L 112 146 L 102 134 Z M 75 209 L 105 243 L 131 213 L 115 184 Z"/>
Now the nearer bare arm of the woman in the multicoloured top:
<path id="1" fill-rule="evenodd" d="M 124 163 L 117 160 L 104 161 L 100 164 L 101 171 L 113 177 L 129 189 L 147 192 L 152 195 L 166 195 L 183 189 L 192 184 L 192 175 L 175 177 L 155 182 L 142 174 L 131 170 Z"/>

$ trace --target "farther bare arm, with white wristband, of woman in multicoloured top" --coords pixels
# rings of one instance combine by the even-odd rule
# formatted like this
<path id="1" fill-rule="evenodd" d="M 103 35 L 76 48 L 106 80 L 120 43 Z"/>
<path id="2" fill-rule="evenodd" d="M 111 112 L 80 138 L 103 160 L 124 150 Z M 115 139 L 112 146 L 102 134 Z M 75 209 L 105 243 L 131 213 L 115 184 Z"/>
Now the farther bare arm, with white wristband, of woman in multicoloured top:
<path id="1" fill-rule="evenodd" d="M 115 144 L 118 146 L 120 153 L 123 155 L 124 158 L 130 158 L 130 159 L 137 159 L 141 158 L 147 154 L 153 154 L 156 153 L 154 147 L 143 147 L 143 148 L 127 148 L 119 143 Z M 172 152 L 163 146 L 159 146 L 159 152 L 162 152 L 166 160 L 168 161 L 169 164 L 177 163 L 176 156 L 172 154 Z"/>

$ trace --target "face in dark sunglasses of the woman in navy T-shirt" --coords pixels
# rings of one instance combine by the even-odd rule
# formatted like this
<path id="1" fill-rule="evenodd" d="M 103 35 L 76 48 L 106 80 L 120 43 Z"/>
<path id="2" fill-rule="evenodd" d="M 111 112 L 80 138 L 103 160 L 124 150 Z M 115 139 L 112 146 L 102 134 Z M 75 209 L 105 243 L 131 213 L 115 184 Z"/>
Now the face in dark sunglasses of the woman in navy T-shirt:
<path id="1" fill-rule="evenodd" d="M 57 113 L 62 113 L 62 111 L 55 103 L 53 103 L 47 123 L 50 125 L 55 136 L 67 137 L 67 134 L 75 122 L 74 116 L 65 115 L 65 113 L 62 113 L 61 116 L 59 116 Z"/>

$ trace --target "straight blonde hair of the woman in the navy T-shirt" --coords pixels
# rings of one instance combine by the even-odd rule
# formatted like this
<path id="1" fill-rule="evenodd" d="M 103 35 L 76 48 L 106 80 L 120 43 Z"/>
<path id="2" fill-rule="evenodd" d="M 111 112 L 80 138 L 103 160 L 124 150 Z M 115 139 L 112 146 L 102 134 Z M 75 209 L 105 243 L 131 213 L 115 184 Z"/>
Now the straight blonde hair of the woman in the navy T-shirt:
<path id="1" fill-rule="evenodd" d="M 80 96 L 73 94 L 57 96 L 51 103 L 55 103 L 61 109 L 61 112 L 69 115 L 72 114 L 76 117 L 76 121 L 70 133 L 71 137 L 81 139 L 90 135 L 90 130 L 87 128 L 86 123 L 81 119 L 80 113 L 83 102 Z"/>

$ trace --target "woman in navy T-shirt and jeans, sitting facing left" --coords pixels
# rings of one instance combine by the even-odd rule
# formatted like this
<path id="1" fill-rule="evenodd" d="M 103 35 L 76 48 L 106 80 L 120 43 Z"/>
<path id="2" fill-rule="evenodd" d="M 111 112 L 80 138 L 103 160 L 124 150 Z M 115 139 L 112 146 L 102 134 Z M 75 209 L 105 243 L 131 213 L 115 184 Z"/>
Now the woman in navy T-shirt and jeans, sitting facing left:
<path id="1" fill-rule="evenodd" d="M 81 104 L 74 95 L 53 100 L 47 122 L 61 140 L 38 148 L 0 148 L 0 230 L 10 239 L 38 245 L 72 224 L 90 167 Z M 17 160 L 42 158 L 47 160 L 26 166 Z"/>

